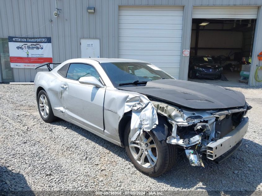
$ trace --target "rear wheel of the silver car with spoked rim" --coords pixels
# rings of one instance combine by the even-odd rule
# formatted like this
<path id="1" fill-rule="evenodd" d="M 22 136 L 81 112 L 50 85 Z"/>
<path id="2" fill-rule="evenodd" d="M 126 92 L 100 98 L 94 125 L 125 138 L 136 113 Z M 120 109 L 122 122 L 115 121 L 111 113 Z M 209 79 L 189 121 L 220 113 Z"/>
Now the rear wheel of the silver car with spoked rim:
<path id="1" fill-rule="evenodd" d="M 51 103 L 46 91 L 40 90 L 40 92 L 38 93 L 37 106 L 39 114 L 43 121 L 50 123 L 56 120 L 56 116 L 53 113 Z"/>

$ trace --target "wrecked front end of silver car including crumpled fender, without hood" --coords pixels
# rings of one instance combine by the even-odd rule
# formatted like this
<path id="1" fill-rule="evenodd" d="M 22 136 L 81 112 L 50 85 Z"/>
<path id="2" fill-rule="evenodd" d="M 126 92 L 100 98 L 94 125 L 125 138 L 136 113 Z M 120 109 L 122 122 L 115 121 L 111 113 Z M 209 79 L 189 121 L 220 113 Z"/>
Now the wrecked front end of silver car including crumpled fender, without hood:
<path id="1" fill-rule="evenodd" d="M 241 107 L 193 109 L 122 90 L 108 90 L 105 96 L 111 98 L 104 103 L 106 136 L 113 129 L 121 130 L 119 122 L 128 114 L 131 117 L 130 142 L 136 141 L 144 131 L 152 131 L 159 141 L 165 140 L 184 150 L 192 166 L 204 166 L 202 157 L 220 163 L 237 150 L 248 128 L 248 117 L 244 116 L 252 108 L 244 102 Z M 114 104 L 116 101 L 121 104 Z M 111 115 L 112 112 L 119 118 Z"/>

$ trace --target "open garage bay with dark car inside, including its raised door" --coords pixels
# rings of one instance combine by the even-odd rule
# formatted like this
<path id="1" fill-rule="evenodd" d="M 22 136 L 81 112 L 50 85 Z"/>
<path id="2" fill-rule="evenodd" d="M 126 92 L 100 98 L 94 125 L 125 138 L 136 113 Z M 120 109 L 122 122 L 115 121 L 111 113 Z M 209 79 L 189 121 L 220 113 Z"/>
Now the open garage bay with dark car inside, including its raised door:
<path id="1" fill-rule="evenodd" d="M 257 7 L 194 8 L 189 81 L 247 86 L 256 16 Z"/>

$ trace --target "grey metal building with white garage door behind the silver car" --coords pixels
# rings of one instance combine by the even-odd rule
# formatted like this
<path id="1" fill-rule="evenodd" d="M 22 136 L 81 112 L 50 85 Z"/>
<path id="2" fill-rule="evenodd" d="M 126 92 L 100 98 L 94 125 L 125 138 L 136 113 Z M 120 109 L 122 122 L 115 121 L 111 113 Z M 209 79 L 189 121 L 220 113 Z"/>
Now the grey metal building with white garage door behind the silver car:
<path id="1" fill-rule="evenodd" d="M 0 82 L 29 82 L 45 71 L 11 68 L 8 36 L 51 37 L 55 63 L 86 57 L 83 45 L 94 39 L 99 57 L 149 61 L 187 80 L 189 57 L 182 50 L 190 49 L 192 19 L 205 18 L 256 19 L 249 85 L 262 85 L 253 81 L 262 50 L 261 5 L 262 0 L 0 0 Z"/>

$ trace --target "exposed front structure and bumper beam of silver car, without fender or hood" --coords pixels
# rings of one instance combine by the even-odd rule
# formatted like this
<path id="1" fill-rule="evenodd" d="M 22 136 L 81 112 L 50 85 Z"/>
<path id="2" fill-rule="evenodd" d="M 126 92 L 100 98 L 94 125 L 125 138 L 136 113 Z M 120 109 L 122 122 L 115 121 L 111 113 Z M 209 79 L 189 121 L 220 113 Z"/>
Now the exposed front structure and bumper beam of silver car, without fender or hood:
<path id="1" fill-rule="evenodd" d="M 149 98 L 150 99 L 150 98 Z M 192 166 L 203 166 L 202 156 L 221 162 L 222 156 L 235 151 L 247 132 L 248 117 L 244 117 L 252 107 L 229 109 L 195 110 L 173 106 L 160 100 L 150 100 L 156 111 L 167 117 L 171 124 L 171 135 L 167 143 L 185 150 Z M 227 158 L 223 157 L 223 160 Z"/>

